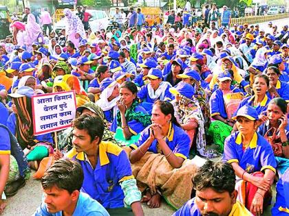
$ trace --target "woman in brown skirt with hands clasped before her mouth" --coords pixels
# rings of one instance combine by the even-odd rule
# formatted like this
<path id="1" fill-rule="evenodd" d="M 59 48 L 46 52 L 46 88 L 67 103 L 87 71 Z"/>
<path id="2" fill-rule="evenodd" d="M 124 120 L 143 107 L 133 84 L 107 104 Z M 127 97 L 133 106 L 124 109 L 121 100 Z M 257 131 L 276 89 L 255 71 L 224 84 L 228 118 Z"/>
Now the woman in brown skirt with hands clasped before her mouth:
<path id="1" fill-rule="evenodd" d="M 180 208 L 190 199 L 193 189 L 191 177 L 195 166 L 186 160 L 190 138 L 180 128 L 168 101 L 154 103 L 151 121 L 138 142 L 130 145 L 133 176 L 144 193 L 142 202 L 147 202 L 149 208 L 160 207 L 162 195 L 169 204 Z"/>

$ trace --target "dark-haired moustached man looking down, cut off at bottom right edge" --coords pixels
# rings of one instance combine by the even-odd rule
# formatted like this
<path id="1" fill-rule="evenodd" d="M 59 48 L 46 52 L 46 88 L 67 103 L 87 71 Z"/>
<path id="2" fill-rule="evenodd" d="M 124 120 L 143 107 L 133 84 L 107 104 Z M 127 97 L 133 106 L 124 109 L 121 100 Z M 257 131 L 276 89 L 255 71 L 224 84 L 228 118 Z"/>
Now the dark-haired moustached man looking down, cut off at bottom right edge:
<path id="1" fill-rule="evenodd" d="M 234 169 L 230 164 L 208 160 L 193 176 L 195 197 L 186 202 L 173 216 L 252 215 L 236 200 L 235 178 Z"/>

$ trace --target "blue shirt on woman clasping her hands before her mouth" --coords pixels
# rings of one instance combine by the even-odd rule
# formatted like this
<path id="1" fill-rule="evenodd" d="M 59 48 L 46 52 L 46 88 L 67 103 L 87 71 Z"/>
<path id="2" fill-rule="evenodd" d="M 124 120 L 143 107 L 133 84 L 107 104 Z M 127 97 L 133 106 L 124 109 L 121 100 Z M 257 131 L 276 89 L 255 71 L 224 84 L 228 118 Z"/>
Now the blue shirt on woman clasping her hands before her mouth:
<path id="1" fill-rule="evenodd" d="M 147 139 L 149 139 L 150 134 L 150 126 L 148 126 L 140 135 L 140 139 L 136 144 L 131 144 L 129 147 L 133 149 L 137 149 L 140 145 L 142 145 Z M 173 151 L 175 156 L 181 158 L 188 158 L 189 157 L 189 150 L 190 150 L 190 138 L 182 128 L 171 123 L 169 127 L 169 133 L 166 138 L 166 143 L 169 148 Z M 147 150 L 148 152 L 158 153 L 158 141 L 156 139 L 151 143 L 151 146 Z"/>

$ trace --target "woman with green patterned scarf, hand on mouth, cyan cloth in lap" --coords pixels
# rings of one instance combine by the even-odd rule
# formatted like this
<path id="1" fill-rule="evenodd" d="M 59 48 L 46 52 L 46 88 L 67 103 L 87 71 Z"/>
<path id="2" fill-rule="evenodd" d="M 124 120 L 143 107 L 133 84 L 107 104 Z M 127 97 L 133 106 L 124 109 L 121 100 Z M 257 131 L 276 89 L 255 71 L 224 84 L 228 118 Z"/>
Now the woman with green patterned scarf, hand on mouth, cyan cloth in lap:
<path id="1" fill-rule="evenodd" d="M 140 132 L 151 124 L 149 114 L 138 103 L 138 88 L 133 82 L 124 82 L 120 86 L 120 100 L 116 103 L 118 112 L 111 124 L 111 131 L 116 132 L 116 141 L 125 145 L 136 143 Z"/>

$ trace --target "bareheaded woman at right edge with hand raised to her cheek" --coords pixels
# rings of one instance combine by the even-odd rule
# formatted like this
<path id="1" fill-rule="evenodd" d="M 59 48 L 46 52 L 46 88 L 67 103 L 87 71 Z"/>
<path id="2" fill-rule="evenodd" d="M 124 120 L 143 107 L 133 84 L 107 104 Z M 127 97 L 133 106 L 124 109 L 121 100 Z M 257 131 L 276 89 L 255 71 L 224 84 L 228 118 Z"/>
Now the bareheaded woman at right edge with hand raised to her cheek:
<path id="1" fill-rule="evenodd" d="M 286 113 L 286 101 L 281 97 L 275 97 L 268 104 L 266 121 L 258 128 L 259 134 L 266 139 L 269 138 L 269 143 L 274 145 L 272 149 L 277 162 L 277 170 L 281 174 L 289 167 L 289 126 Z M 275 139 L 272 136 L 275 136 Z M 270 138 L 273 139 L 271 142 Z"/>

